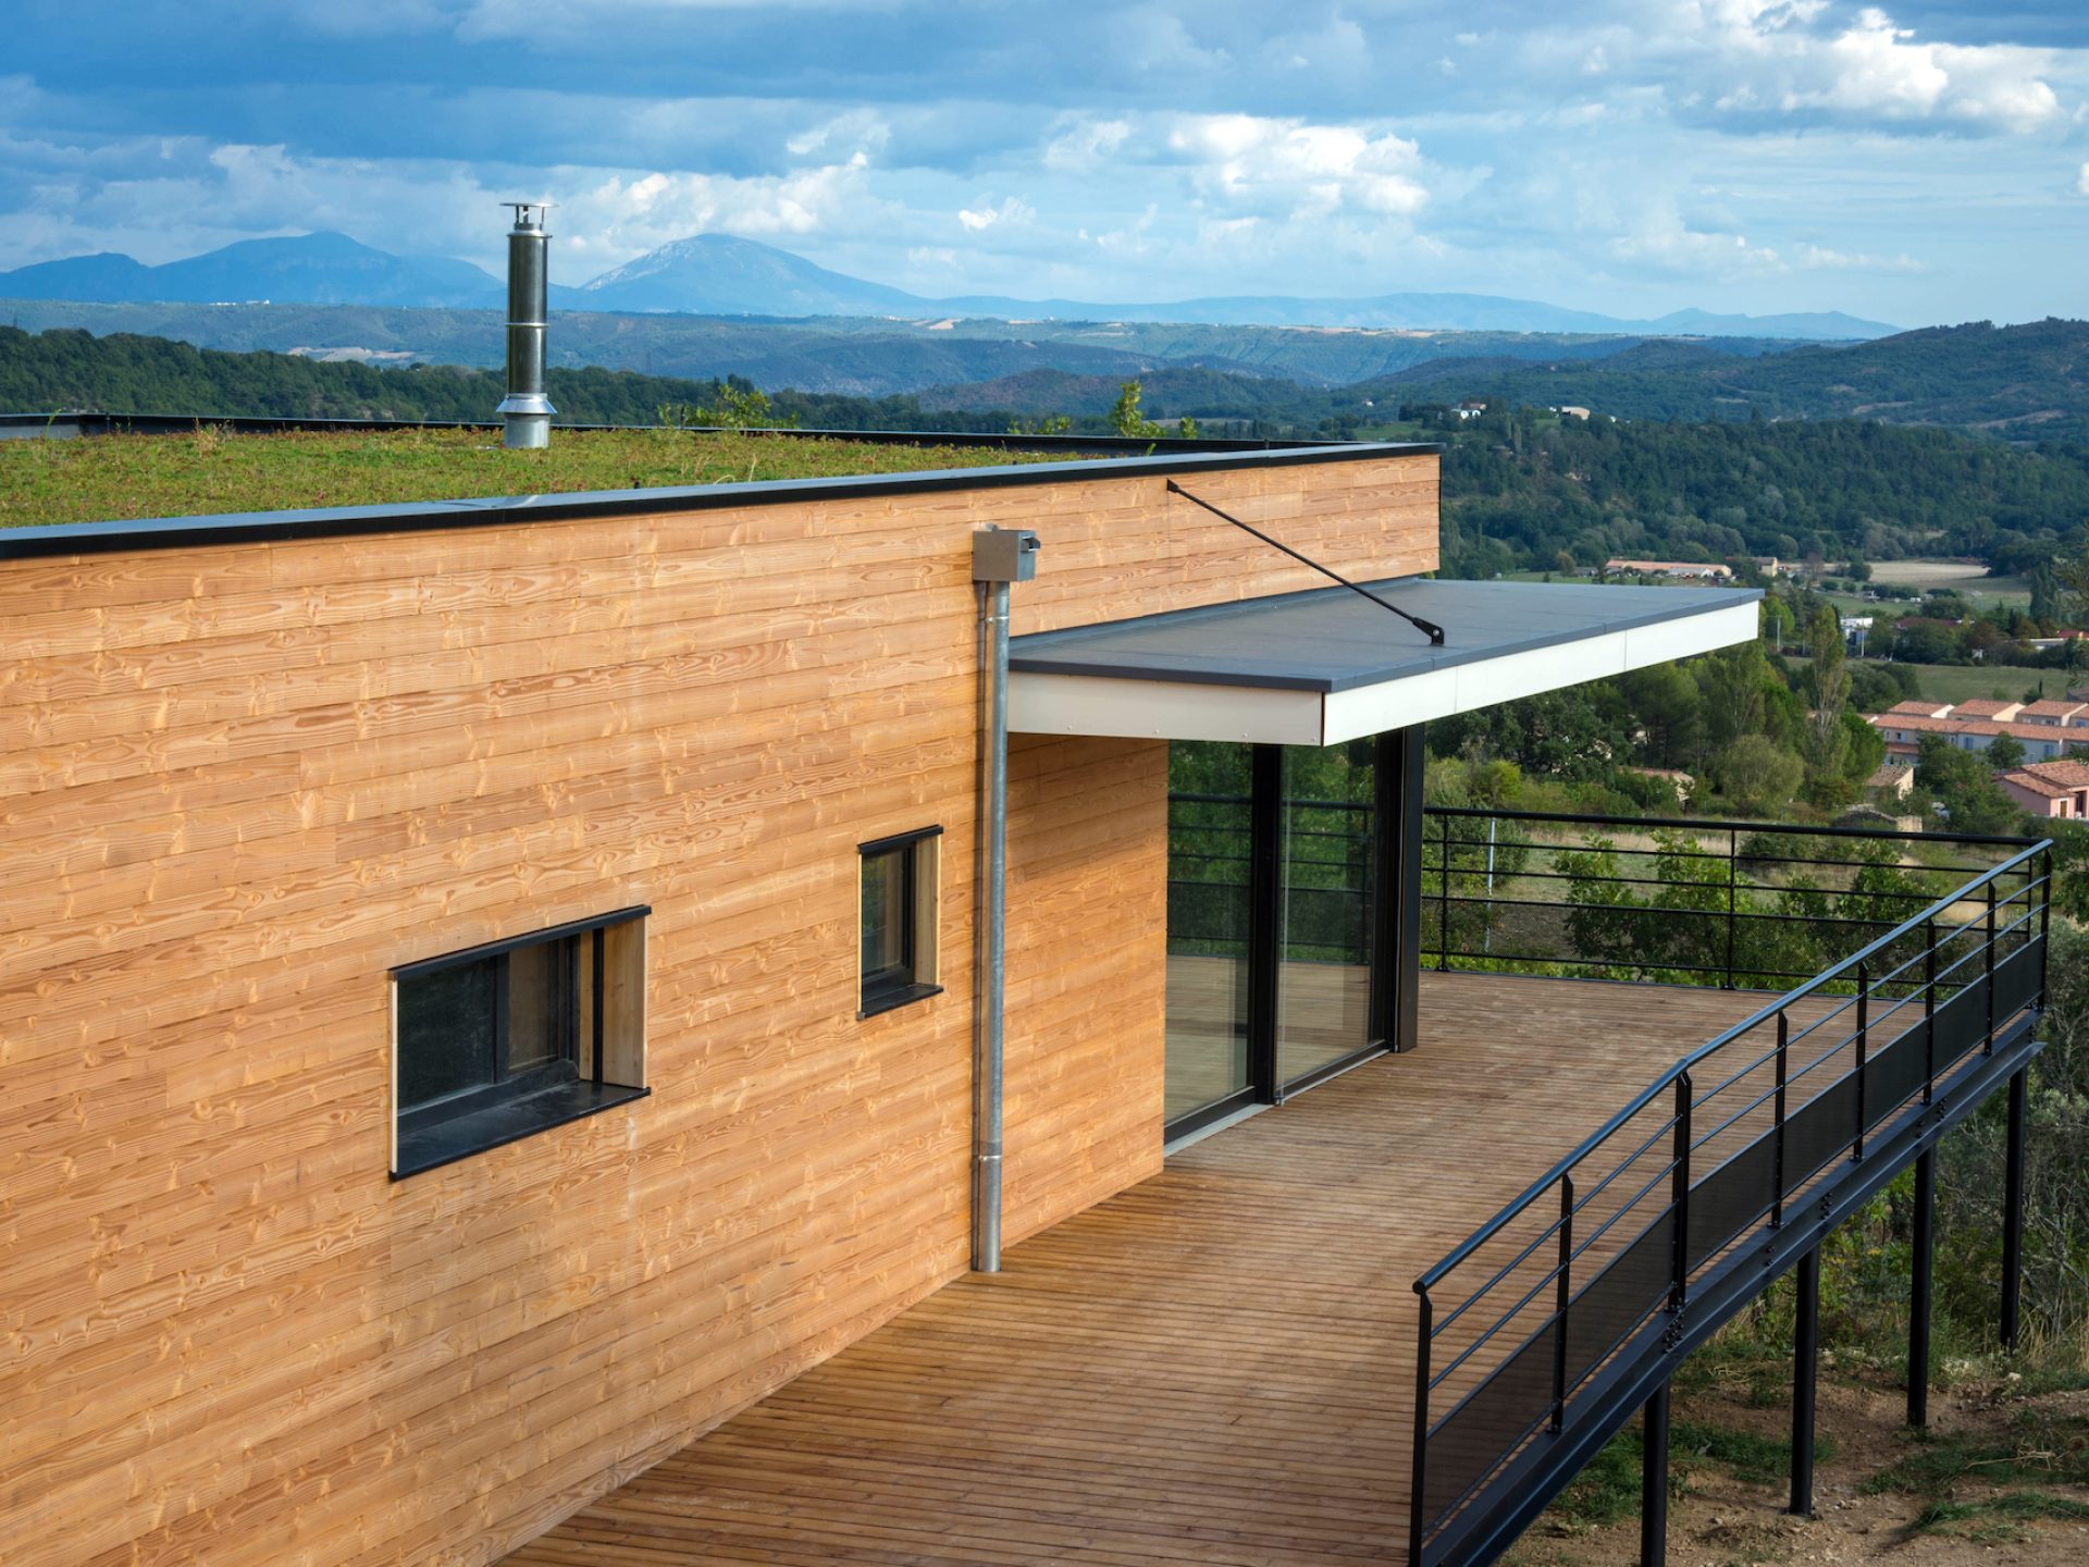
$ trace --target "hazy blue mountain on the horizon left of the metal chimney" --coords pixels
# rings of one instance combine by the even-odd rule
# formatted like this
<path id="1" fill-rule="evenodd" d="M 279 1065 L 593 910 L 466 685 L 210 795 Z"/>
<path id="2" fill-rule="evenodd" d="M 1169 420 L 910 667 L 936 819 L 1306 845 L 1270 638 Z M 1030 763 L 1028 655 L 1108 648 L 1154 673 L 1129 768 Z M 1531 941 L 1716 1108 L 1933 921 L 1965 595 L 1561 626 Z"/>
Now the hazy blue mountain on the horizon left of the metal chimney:
<path id="1" fill-rule="evenodd" d="M 104 303 L 299 301 L 311 305 L 497 307 L 501 282 L 441 255 L 391 255 L 347 234 L 240 240 L 148 267 L 127 255 L 84 255 L 0 272 L 0 295 Z"/>

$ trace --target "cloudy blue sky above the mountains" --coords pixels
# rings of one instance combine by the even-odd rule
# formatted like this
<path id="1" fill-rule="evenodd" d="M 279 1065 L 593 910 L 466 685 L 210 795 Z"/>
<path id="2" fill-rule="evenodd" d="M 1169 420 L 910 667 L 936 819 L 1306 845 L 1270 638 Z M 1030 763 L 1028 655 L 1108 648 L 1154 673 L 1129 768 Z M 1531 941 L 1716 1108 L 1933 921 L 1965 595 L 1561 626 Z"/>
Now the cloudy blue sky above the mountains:
<path id="1" fill-rule="evenodd" d="M 2089 315 L 2089 4 L 8 0 L 0 267 L 338 228 L 583 282 Z"/>

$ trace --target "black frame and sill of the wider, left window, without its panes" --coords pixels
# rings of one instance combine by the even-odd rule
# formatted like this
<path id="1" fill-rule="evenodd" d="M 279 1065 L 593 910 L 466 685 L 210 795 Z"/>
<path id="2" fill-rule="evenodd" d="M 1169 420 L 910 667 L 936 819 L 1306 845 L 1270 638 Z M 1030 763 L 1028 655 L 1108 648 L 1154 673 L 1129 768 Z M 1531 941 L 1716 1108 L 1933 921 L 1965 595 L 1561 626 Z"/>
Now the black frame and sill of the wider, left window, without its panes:
<path id="1" fill-rule="evenodd" d="M 547 930 L 533 930 L 526 936 L 480 942 L 455 953 L 401 963 L 391 972 L 393 982 L 393 1170 L 395 1180 L 422 1170 L 485 1153 L 487 1149 L 514 1143 L 535 1132 L 564 1126 L 566 1122 L 593 1116 L 616 1105 L 643 1099 L 650 1089 L 641 1084 L 612 1082 L 604 1078 L 606 1018 L 604 997 L 604 942 L 612 928 L 643 921 L 652 913 L 648 905 L 616 909 L 614 913 L 572 919 Z M 643 940 L 643 928 L 639 930 Z M 564 946 L 560 955 L 562 972 L 554 980 L 551 1003 L 551 1055 L 516 1070 L 512 1032 L 512 961 L 526 949 Z M 585 995 L 593 1001 L 585 1007 L 589 1026 L 583 1030 L 583 965 L 587 965 Z M 405 1080 L 403 1051 L 409 1049 L 405 1030 L 405 986 L 435 974 L 453 974 L 464 967 L 489 967 L 491 982 L 491 1063 L 478 1082 L 464 1089 L 422 1099 L 412 1105 L 399 1101 Z M 643 1007 L 643 999 L 639 999 Z M 583 1032 L 587 1038 L 583 1038 Z"/>

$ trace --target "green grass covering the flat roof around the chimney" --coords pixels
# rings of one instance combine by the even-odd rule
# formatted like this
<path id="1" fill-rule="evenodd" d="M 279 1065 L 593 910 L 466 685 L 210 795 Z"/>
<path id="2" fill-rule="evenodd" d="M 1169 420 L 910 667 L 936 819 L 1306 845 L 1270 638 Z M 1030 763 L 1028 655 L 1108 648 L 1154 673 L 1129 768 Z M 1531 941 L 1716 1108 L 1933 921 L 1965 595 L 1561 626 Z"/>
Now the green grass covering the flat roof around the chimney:
<path id="1" fill-rule="evenodd" d="M 0 441 L 0 527 L 386 506 L 476 495 L 725 485 L 1047 462 L 994 447 L 871 445 L 798 435 L 554 430 L 503 451 L 497 430 L 107 435 Z"/>

